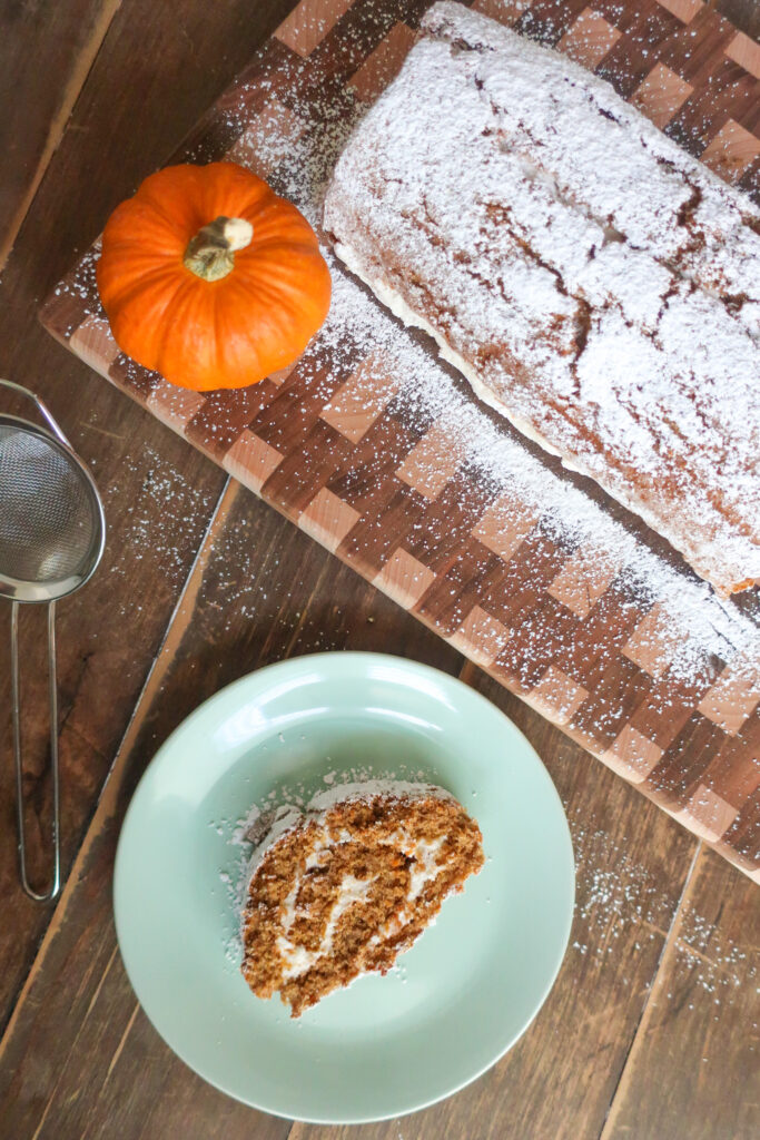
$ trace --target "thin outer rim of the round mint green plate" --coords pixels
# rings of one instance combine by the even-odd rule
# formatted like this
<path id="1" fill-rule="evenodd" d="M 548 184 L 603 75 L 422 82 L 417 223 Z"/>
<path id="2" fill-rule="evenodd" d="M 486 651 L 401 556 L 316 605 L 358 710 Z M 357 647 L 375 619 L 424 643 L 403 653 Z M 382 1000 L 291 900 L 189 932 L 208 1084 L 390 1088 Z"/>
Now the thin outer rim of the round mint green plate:
<path id="1" fill-rule="evenodd" d="M 498 1053 L 495 1053 L 495 1056 L 489 1061 L 480 1066 L 475 1072 L 468 1073 L 467 1076 L 464 1077 L 461 1082 L 457 1083 L 456 1085 L 452 1085 L 446 1092 L 436 1093 L 435 1096 L 430 1098 L 423 1098 L 419 1101 L 416 1101 L 410 1107 L 397 1108 L 395 1110 L 389 1110 L 379 1115 L 377 1113 L 374 1113 L 370 1115 L 358 1116 L 356 1115 L 356 1113 L 351 1113 L 348 1115 L 343 1114 L 343 1115 L 332 1115 L 332 1116 L 319 1116 L 319 1115 L 305 1116 L 300 1113 L 293 1113 L 291 1110 L 285 1110 L 284 1108 L 271 1107 L 270 1105 L 263 1104 L 262 1102 L 263 1098 L 258 1098 L 254 1100 L 251 1097 L 242 1096 L 238 1091 L 226 1086 L 222 1081 L 216 1080 L 215 1077 L 211 1077 L 205 1073 L 201 1072 L 196 1067 L 196 1065 L 188 1059 L 182 1045 L 181 1044 L 177 1045 L 173 1042 L 171 1042 L 156 1024 L 156 1020 L 152 1016 L 150 1011 L 144 1004 L 142 999 L 140 997 L 138 986 L 134 983 L 134 978 L 130 970 L 130 966 L 126 961 L 122 947 L 122 938 L 120 936 L 121 921 L 119 918 L 119 910 L 120 910 L 119 894 L 121 889 L 120 882 L 123 880 L 123 876 L 125 874 L 123 870 L 124 868 L 123 853 L 125 850 L 128 841 L 126 840 L 123 842 L 123 839 L 125 836 L 128 836 L 128 828 L 132 825 L 130 821 L 137 817 L 139 813 L 141 798 L 148 795 L 150 781 L 147 777 L 152 772 L 155 773 L 158 771 L 161 764 L 165 763 L 165 756 L 170 755 L 173 748 L 175 747 L 177 739 L 180 738 L 185 732 L 190 731 L 193 724 L 197 719 L 203 717 L 204 714 L 207 712 L 209 707 L 213 706 L 214 703 L 221 702 L 221 700 L 224 698 L 229 698 L 229 695 L 236 689 L 244 691 L 252 683 L 254 684 L 255 689 L 265 691 L 265 689 L 268 687 L 265 684 L 267 679 L 272 677 L 275 674 L 283 674 L 287 671 L 297 673 L 299 669 L 302 668 L 307 662 L 325 663 L 333 661 L 337 663 L 338 661 L 345 662 L 349 659 L 352 662 L 354 662 L 356 668 L 361 668 L 362 671 L 365 667 L 368 668 L 370 665 L 377 665 L 383 662 L 389 665 L 392 663 L 395 668 L 401 666 L 404 669 L 416 675 L 420 674 L 423 676 L 426 675 L 428 678 L 434 679 L 439 684 L 441 683 L 443 683 L 444 685 L 450 684 L 455 690 L 461 689 L 468 694 L 468 698 L 474 699 L 476 705 L 480 703 L 484 708 L 487 708 L 489 710 L 489 715 L 491 716 L 496 715 L 496 717 L 507 726 L 508 731 L 515 734 L 522 741 L 528 752 L 531 755 L 531 763 L 537 767 L 544 784 L 547 787 L 549 795 L 554 797 L 556 806 L 559 808 L 561 819 L 564 823 L 564 829 L 561 830 L 563 832 L 563 840 L 566 842 L 566 852 L 569 856 L 565 863 L 565 873 L 564 873 L 565 878 L 564 889 L 566 891 L 566 897 L 564 902 L 565 912 L 562 915 L 563 921 L 561 923 L 559 922 L 557 923 L 557 928 L 561 929 L 562 931 L 562 937 L 558 939 L 557 943 L 558 950 L 554 955 L 551 970 L 548 974 L 547 980 L 545 982 L 545 985 L 542 987 L 540 1000 L 537 1001 L 536 1008 L 533 1009 L 531 1015 L 524 1019 L 524 1021 L 520 1025 L 516 1032 L 509 1037 L 507 1043 L 500 1049 Z M 263 685 L 262 684 L 256 685 L 255 682 L 263 682 Z M 408 1116 L 411 1113 L 422 1112 L 426 1108 L 431 1108 L 433 1105 L 440 1104 L 443 1100 L 448 1100 L 449 1097 L 456 1096 L 458 1092 L 461 1092 L 463 1089 L 466 1089 L 474 1081 L 477 1081 L 481 1076 L 483 1076 L 484 1073 L 488 1073 L 489 1069 L 491 1069 L 495 1065 L 497 1065 L 506 1056 L 506 1053 L 509 1052 L 509 1050 L 517 1043 L 517 1041 L 520 1041 L 520 1039 L 526 1033 L 528 1028 L 531 1026 L 533 1020 L 538 1017 L 539 1012 L 541 1011 L 541 1009 L 546 1003 L 549 993 L 554 988 L 554 985 L 557 980 L 557 976 L 562 968 L 562 963 L 567 952 L 567 946 L 570 942 L 570 934 L 572 929 L 574 906 L 575 906 L 575 886 L 577 886 L 575 853 L 573 848 L 572 833 L 570 831 L 567 814 L 562 803 L 559 792 L 557 791 L 557 788 L 548 772 L 548 768 L 544 764 L 537 750 L 533 748 L 533 746 L 528 740 L 525 734 L 517 727 L 517 725 L 512 720 L 512 718 L 507 716 L 506 712 L 504 712 L 493 701 L 489 700 L 488 697 L 483 695 L 483 693 L 479 692 L 476 689 L 472 687 L 466 682 L 461 681 L 458 676 L 449 674 L 443 669 L 439 669 L 435 666 L 417 661 L 414 658 L 404 658 L 393 653 L 375 653 L 367 650 L 329 650 L 324 653 L 304 653 L 299 657 L 285 658 L 278 661 L 272 661 L 268 665 L 263 665 L 258 669 L 252 669 L 250 673 L 246 673 L 240 677 L 236 677 L 235 681 L 231 681 L 227 685 L 223 685 L 221 689 L 218 689 L 214 693 L 212 693 L 198 706 L 196 706 L 196 708 L 194 708 L 182 720 L 180 720 L 178 725 L 175 725 L 175 727 L 166 736 L 166 739 L 154 752 L 150 760 L 146 765 L 131 795 L 130 803 L 124 813 L 124 817 L 122 820 L 120 828 L 116 853 L 114 858 L 112 901 L 113 901 L 113 913 L 114 913 L 114 927 L 116 933 L 116 944 L 119 947 L 119 953 L 122 960 L 122 964 L 124 967 L 124 971 L 132 987 L 134 996 L 144 1015 L 147 1017 L 148 1021 L 150 1023 L 155 1032 L 158 1034 L 161 1040 L 177 1057 L 179 1057 L 179 1059 L 182 1061 L 183 1065 L 187 1065 L 187 1067 L 190 1068 L 191 1072 L 196 1073 L 197 1076 L 199 1076 L 207 1084 L 215 1088 L 219 1092 L 222 1092 L 224 1096 L 231 1097 L 238 1104 L 246 1105 L 247 1107 L 253 1108 L 256 1112 L 269 1114 L 271 1116 L 277 1116 L 281 1119 L 289 1119 L 305 1124 L 359 1125 L 359 1124 L 378 1123 L 382 1121 L 394 1119 L 395 1117 Z"/>

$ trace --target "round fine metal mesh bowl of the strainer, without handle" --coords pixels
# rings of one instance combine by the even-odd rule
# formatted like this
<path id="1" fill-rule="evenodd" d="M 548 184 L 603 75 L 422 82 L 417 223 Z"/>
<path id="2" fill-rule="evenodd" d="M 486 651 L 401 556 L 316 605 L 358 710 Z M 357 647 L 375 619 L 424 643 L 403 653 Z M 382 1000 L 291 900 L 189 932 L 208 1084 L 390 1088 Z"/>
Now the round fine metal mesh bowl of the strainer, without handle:
<path id="1" fill-rule="evenodd" d="M 52 441 L 0 425 L 0 576 L 60 581 L 87 567 L 97 531 L 92 489 Z"/>

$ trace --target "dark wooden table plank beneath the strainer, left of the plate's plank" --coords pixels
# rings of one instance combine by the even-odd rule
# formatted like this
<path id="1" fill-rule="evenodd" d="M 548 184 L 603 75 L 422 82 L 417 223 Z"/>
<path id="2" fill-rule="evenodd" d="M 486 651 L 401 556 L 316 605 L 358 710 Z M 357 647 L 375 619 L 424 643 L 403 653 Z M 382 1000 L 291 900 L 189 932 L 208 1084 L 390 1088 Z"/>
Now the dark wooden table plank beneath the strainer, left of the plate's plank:
<path id="1" fill-rule="evenodd" d="M 36 58 L 41 9 L 35 18 L 32 15 L 38 7 L 27 6 L 21 13 L 13 35 L 13 50 L 27 65 Z M 48 401 L 74 447 L 93 467 L 108 524 L 98 575 L 59 608 L 64 871 L 81 842 L 224 477 L 62 352 L 39 326 L 36 310 L 57 275 L 98 233 L 108 210 L 165 160 L 289 7 L 288 0 L 281 0 L 252 9 L 240 0 L 224 5 L 210 21 L 201 3 L 179 13 L 134 0 L 123 3 L 93 66 L 81 75 L 84 87 L 65 138 L 46 168 L 0 283 L 0 374 Z M 62 50 L 66 43 L 79 43 L 82 6 L 52 8 L 49 34 L 62 41 Z M 52 8 L 46 6 L 48 11 Z M 8 19 L 10 15 L 5 14 Z M 70 22 L 67 34 L 62 31 L 64 18 Z M 2 50 L 9 50 L 8 40 L 2 42 Z M 35 82 L 44 75 L 48 49 L 42 48 L 32 68 L 39 67 Z M 59 81 L 59 71 L 51 67 L 50 88 Z M 50 98 L 55 101 L 55 90 Z M 24 99 L 18 103 L 23 105 Z M 36 106 L 28 101 L 30 115 Z M 30 119 L 30 129 L 33 125 Z M 14 131 L 23 133 L 18 123 Z M 3 408 L 21 412 L 21 404 L 5 396 L 0 400 Z M 40 874 L 50 795 L 41 618 L 30 610 L 22 629 L 30 772 L 25 797 L 32 863 Z M 8 608 L 2 606 L 2 662 L 7 660 L 7 621 Z M 8 684 L 3 663 L 3 759 L 10 739 Z M 17 886 L 15 834 L 11 767 L 3 763 L 0 889 L 6 921 L 0 927 L 0 1026 L 7 1021 L 50 917 L 49 907 L 31 903 Z"/>

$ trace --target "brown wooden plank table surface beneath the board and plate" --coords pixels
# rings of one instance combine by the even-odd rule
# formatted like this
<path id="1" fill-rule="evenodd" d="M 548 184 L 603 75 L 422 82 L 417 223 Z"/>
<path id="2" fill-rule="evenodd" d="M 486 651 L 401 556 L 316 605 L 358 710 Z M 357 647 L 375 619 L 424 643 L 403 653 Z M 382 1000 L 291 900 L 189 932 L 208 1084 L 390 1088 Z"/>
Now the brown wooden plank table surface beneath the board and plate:
<path id="1" fill-rule="evenodd" d="M 0 5 L 0 374 L 49 402 L 92 466 L 108 521 L 97 576 L 59 606 L 67 878 L 52 906 L 31 903 L 17 885 L 9 606 L 0 609 L 0 1138 L 755 1137 L 757 886 L 36 323 L 39 302 L 108 211 L 165 161 L 291 6 Z M 758 36 L 754 0 L 718 7 Z M 43 632 L 43 613 L 25 610 L 25 796 L 41 874 L 50 806 Z M 565 804 L 578 902 L 559 979 L 504 1060 L 424 1113 L 332 1129 L 238 1105 L 169 1051 L 126 980 L 111 881 L 129 798 L 180 720 L 252 669 L 334 649 L 428 662 L 515 720 Z"/>

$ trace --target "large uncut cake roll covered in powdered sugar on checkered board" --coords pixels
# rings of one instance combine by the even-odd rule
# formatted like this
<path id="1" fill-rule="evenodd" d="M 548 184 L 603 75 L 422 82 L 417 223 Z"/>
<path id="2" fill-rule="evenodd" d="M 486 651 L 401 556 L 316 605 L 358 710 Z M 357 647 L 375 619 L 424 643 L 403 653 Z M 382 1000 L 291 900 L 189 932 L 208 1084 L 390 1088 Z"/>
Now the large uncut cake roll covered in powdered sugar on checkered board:
<path id="1" fill-rule="evenodd" d="M 760 212 L 608 83 L 436 3 L 325 228 L 520 431 L 721 594 L 760 581 Z"/>

